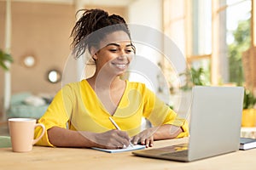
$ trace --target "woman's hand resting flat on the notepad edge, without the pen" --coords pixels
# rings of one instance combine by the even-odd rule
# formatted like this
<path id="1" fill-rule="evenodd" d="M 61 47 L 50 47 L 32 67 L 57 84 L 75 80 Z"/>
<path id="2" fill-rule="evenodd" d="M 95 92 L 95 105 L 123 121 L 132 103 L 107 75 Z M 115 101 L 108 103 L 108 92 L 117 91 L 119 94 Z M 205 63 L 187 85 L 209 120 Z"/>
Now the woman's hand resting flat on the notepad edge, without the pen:
<path id="1" fill-rule="evenodd" d="M 154 143 L 154 128 L 148 128 L 146 130 L 143 130 L 143 132 L 138 133 L 137 135 L 133 136 L 131 138 L 132 144 L 143 144 L 146 145 L 146 148 L 152 147 Z"/>

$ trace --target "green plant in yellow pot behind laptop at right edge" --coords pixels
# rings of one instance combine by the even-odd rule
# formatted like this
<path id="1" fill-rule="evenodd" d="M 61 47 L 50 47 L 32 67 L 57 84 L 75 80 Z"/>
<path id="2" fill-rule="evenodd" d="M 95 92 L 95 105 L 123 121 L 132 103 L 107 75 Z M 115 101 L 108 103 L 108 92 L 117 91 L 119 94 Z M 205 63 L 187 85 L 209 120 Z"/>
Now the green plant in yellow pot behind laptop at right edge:
<path id="1" fill-rule="evenodd" d="M 241 127 L 255 127 L 256 126 L 256 98 L 253 92 L 249 89 L 244 91 L 243 111 L 241 116 Z"/>

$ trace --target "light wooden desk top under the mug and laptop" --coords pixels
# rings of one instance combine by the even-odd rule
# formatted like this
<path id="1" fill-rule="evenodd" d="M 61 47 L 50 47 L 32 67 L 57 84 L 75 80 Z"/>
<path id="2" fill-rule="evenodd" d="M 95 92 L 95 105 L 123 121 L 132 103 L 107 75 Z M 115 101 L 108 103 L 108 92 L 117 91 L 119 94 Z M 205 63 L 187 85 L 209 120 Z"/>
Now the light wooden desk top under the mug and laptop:
<path id="1" fill-rule="evenodd" d="M 154 147 L 180 144 L 187 139 L 162 140 Z M 34 146 L 28 153 L 0 149 L 0 169 L 256 169 L 256 149 L 237 151 L 200 161 L 178 162 L 131 155 L 131 152 L 109 154 L 102 151 L 75 148 Z"/>

